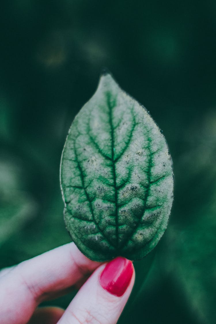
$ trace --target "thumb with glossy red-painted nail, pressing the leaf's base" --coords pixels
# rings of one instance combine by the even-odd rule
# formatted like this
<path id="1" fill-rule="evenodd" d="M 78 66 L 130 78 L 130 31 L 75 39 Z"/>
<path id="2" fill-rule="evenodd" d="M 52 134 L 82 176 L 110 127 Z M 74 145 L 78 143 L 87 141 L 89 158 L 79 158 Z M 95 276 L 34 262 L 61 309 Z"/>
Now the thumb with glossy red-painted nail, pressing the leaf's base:
<path id="1" fill-rule="evenodd" d="M 114 324 L 129 298 L 135 272 L 130 260 L 118 257 L 101 265 L 85 282 L 58 324 Z"/>

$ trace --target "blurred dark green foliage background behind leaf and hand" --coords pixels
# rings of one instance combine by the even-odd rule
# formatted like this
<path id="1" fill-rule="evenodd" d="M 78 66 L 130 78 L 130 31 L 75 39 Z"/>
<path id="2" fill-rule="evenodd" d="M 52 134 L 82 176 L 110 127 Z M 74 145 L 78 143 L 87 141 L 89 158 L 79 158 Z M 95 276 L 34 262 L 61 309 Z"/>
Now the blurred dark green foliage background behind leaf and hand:
<path id="1" fill-rule="evenodd" d="M 0 267 L 71 241 L 60 157 L 106 66 L 163 130 L 175 174 L 119 323 L 215 323 L 215 0 L 3 1 L 0 33 Z"/>

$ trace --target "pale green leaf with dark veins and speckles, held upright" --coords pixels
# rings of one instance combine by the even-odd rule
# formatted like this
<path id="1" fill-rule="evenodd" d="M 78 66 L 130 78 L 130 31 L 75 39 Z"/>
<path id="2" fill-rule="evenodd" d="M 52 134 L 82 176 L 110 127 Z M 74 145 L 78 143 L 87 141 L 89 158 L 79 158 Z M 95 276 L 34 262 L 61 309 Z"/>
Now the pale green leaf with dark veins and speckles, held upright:
<path id="1" fill-rule="evenodd" d="M 60 178 L 67 230 L 88 258 L 138 260 L 163 235 L 173 200 L 165 137 L 109 74 L 71 125 Z"/>

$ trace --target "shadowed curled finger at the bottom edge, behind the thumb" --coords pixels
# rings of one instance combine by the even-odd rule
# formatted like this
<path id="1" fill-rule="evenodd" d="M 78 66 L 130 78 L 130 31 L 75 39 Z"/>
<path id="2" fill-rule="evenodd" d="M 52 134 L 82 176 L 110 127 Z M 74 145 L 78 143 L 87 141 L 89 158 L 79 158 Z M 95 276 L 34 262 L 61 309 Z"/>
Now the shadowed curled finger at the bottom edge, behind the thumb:
<path id="1" fill-rule="evenodd" d="M 60 307 L 39 307 L 28 324 L 56 324 L 63 313 L 64 309 Z"/>

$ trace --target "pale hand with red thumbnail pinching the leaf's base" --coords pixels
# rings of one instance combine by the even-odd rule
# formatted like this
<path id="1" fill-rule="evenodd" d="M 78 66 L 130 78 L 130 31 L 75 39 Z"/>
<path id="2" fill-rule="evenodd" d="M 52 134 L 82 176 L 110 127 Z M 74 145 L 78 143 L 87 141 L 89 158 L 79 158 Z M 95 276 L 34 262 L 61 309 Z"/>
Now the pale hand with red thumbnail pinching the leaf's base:
<path id="1" fill-rule="evenodd" d="M 134 278 L 130 260 L 119 257 L 102 264 L 86 258 L 74 243 L 63 245 L 0 272 L 0 323 L 114 324 Z M 36 309 L 42 301 L 80 286 L 65 311 L 58 307 Z"/>

